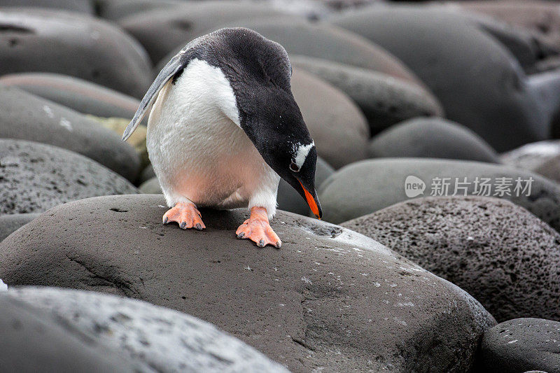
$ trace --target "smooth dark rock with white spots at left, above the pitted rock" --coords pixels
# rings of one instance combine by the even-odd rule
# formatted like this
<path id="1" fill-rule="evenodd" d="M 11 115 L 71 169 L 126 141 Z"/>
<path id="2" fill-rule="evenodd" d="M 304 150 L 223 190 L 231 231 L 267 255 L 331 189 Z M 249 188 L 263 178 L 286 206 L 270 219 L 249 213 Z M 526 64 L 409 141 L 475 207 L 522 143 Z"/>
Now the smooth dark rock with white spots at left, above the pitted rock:
<path id="1" fill-rule="evenodd" d="M 72 150 L 129 180 L 139 173 L 139 155 L 120 136 L 77 111 L 15 87 L 0 85 L 0 138 Z"/>

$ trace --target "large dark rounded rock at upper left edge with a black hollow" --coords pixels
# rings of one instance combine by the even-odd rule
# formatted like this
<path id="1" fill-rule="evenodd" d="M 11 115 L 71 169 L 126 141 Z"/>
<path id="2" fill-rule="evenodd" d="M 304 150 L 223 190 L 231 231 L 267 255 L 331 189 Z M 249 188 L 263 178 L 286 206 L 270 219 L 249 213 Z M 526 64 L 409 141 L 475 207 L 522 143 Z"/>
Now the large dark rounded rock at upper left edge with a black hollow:
<path id="1" fill-rule="evenodd" d="M 151 84 L 141 45 L 112 24 L 79 13 L 5 8 L 1 73 L 63 73 L 142 97 Z"/>

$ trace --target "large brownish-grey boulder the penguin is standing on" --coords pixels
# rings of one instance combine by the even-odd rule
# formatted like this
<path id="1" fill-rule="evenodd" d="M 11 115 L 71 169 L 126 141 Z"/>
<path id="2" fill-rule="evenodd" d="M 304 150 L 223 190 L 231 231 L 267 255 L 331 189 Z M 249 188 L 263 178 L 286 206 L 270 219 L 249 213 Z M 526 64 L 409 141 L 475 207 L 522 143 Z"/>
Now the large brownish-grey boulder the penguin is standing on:
<path id="1" fill-rule="evenodd" d="M 0 277 L 183 311 L 293 372 L 465 372 L 494 324 L 463 290 L 356 232 L 279 211 L 282 248 L 259 249 L 235 237 L 244 210 L 202 210 L 199 232 L 162 225 L 164 204 L 130 195 L 57 206 L 1 242 Z"/>

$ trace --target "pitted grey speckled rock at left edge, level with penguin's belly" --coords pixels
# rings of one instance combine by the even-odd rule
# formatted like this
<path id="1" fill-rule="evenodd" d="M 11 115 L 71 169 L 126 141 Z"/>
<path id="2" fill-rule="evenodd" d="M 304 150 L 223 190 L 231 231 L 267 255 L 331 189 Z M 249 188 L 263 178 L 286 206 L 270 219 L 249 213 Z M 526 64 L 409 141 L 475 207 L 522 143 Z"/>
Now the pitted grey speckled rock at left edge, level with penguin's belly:
<path id="1" fill-rule="evenodd" d="M 0 214 L 42 212 L 75 199 L 136 192 L 125 178 L 82 155 L 0 139 Z"/>

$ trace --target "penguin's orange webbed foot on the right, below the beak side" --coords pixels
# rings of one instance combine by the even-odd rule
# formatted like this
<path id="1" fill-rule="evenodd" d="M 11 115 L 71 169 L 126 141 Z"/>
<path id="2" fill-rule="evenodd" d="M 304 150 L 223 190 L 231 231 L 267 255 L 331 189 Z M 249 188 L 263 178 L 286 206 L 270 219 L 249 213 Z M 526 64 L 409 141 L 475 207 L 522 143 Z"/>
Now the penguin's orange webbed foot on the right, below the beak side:
<path id="1" fill-rule="evenodd" d="M 278 235 L 270 227 L 267 210 L 264 207 L 252 207 L 251 217 L 237 228 L 237 238 L 251 239 L 258 247 L 272 245 L 276 248 L 282 246 Z"/>

